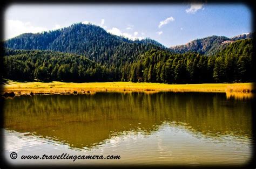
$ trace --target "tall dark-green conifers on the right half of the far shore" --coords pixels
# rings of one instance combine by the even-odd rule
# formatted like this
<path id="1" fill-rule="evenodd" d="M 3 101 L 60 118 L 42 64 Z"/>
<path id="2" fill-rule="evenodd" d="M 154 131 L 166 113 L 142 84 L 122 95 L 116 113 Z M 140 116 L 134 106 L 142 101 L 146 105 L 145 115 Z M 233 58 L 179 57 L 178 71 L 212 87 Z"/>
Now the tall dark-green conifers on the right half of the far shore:
<path id="1" fill-rule="evenodd" d="M 252 39 L 238 40 L 213 56 L 151 50 L 131 67 L 130 81 L 213 83 L 252 81 Z"/>

